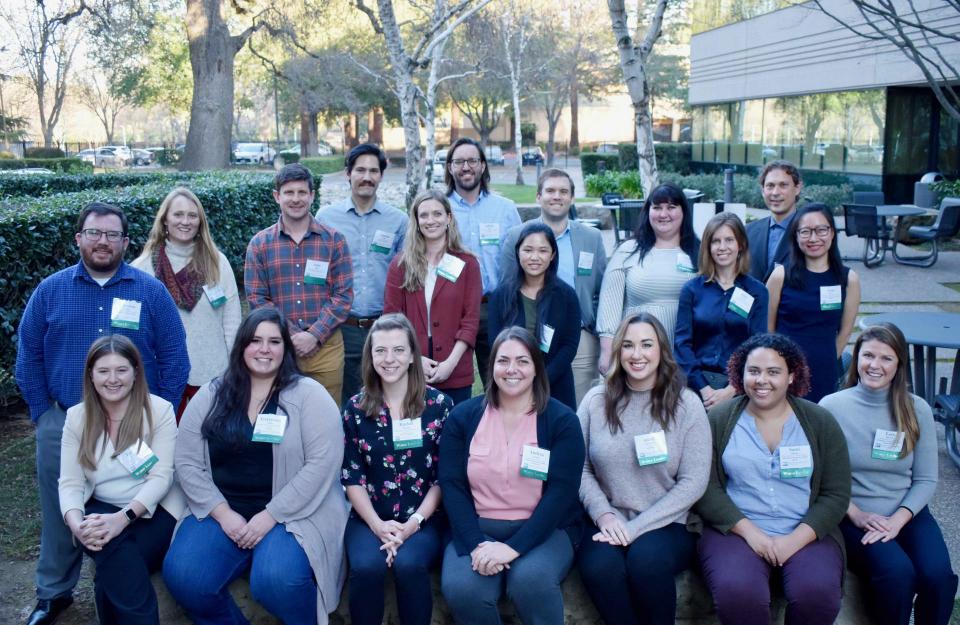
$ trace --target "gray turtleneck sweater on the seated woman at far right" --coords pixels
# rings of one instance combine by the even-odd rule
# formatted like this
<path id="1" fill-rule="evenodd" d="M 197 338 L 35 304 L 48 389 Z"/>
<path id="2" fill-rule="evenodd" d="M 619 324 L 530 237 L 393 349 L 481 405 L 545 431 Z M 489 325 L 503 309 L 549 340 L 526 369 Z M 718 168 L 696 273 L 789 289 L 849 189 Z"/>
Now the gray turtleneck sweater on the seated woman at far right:
<path id="1" fill-rule="evenodd" d="M 827 395 L 820 405 L 833 413 L 847 439 L 853 477 L 852 501 L 865 512 L 890 516 L 904 507 L 916 514 L 937 488 L 937 434 L 927 402 L 911 395 L 920 439 L 913 452 L 896 460 L 871 457 L 878 429 L 896 430 L 888 391 L 857 385 Z"/>

